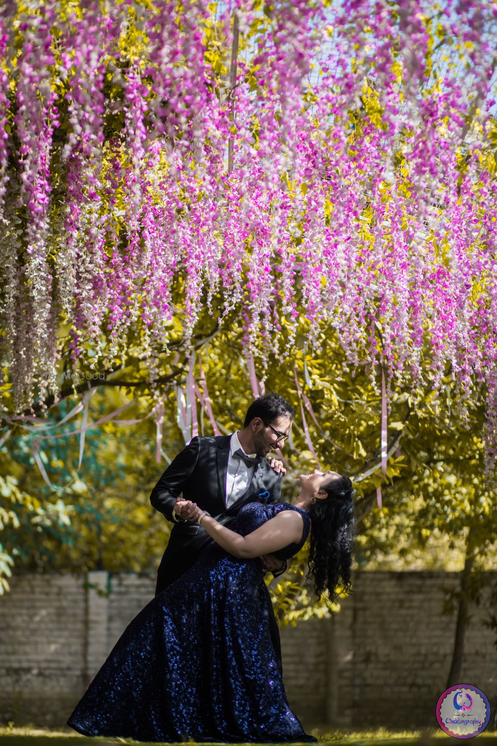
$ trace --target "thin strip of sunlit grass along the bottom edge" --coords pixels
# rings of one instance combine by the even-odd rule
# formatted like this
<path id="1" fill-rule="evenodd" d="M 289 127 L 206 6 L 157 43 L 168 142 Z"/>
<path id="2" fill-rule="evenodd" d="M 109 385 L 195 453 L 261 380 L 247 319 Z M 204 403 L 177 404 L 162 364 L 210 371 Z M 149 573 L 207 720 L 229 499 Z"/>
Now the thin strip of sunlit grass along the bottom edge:
<path id="1" fill-rule="evenodd" d="M 321 744 L 333 746 L 441 746 L 440 741 L 454 739 L 447 736 L 440 728 L 427 730 L 390 731 L 384 728 L 378 730 L 311 730 L 313 736 Z M 497 746 L 497 731 L 484 730 L 476 738 L 480 746 Z M 466 739 L 464 739 L 466 740 Z M 1 746 L 110 746 L 115 744 L 134 744 L 136 741 L 124 739 L 89 739 L 80 736 L 72 730 L 48 730 L 37 727 L 12 727 L 0 725 Z M 157 746 L 154 744 L 153 746 Z M 209 746 L 215 746 L 212 743 Z M 238 745 L 239 746 L 239 745 Z"/>

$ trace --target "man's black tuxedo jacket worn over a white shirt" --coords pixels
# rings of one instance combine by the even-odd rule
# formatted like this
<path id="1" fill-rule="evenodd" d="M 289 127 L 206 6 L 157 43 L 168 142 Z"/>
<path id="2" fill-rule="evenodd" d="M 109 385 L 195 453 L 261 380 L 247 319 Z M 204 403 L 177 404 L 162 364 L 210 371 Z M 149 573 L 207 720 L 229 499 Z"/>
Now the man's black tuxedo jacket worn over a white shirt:
<path id="1" fill-rule="evenodd" d="M 229 439 L 230 436 L 192 438 L 162 474 L 153 488 L 151 504 L 168 521 L 174 522 L 173 507 L 182 493 L 185 500 L 194 501 L 224 525 L 229 524 L 248 502 L 280 502 L 282 474 L 276 474 L 268 461 L 262 459 L 256 464 L 247 491 L 229 508 L 226 507 Z M 262 496 L 263 492 L 269 492 L 269 497 Z M 200 524 L 174 522 L 157 571 L 157 592 L 193 565 L 209 539 L 209 534 Z"/>

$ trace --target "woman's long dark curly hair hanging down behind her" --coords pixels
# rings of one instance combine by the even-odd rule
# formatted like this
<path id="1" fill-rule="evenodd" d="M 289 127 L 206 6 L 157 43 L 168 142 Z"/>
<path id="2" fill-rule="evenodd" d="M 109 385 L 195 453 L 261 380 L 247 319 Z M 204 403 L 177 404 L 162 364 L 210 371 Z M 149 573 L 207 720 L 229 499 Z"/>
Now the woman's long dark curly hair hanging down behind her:
<path id="1" fill-rule="evenodd" d="M 311 547 L 307 577 L 314 578 L 314 591 L 321 598 L 326 589 L 330 601 L 338 598 L 337 586 L 350 592 L 352 547 L 355 541 L 354 490 L 349 477 L 320 487 L 328 497 L 311 505 Z"/>

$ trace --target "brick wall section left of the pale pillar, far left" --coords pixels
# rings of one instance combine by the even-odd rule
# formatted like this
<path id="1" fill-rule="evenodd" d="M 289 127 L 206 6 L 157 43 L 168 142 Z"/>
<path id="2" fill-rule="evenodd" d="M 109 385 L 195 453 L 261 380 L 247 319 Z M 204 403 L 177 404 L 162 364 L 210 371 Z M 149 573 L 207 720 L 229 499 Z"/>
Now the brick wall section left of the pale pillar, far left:
<path id="1" fill-rule="evenodd" d="M 70 575 L 19 575 L 0 598 L 0 720 L 57 722 L 85 674 L 86 596 Z"/>

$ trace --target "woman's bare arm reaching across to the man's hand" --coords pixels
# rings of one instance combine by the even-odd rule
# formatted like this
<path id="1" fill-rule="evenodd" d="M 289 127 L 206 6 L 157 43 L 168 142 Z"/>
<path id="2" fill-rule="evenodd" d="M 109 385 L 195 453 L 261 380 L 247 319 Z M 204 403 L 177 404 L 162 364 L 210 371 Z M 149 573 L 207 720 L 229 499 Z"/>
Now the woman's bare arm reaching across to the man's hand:
<path id="1" fill-rule="evenodd" d="M 190 501 L 179 501 L 180 504 L 190 504 Z M 194 504 L 194 503 L 193 503 Z M 203 510 L 197 507 L 197 513 L 192 520 L 198 521 Z M 202 525 L 209 536 L 226 549 L 233 557 L 241 560 L 250 560 L 253 557 L 261 557 L 262 554 L 271 554 L 288 544 L 300 542 L 303 532 L 303 519 L 296 510 L 282 510 L 281 513 L 270 518 L 265 524 L 256 528 L 247 536 L 230 530 L 218 523 L 211 515 L 204 515 Z"/>

